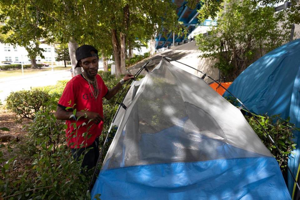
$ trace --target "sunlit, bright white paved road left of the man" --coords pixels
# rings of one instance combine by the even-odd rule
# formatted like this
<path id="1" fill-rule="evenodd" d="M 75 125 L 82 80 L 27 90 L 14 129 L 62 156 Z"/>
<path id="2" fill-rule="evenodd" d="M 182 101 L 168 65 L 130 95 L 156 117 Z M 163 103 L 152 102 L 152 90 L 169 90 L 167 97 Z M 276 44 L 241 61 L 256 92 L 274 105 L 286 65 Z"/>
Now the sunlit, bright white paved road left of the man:
<path id="1" fill-rule="evenodd" d="M 30 90 L 31 87 L 55 85 L 58 80 L 70 80 L 71 78 L 70 70 L 44 71 L 19 77 L 0 78 L 0 101 L 3 103 L 11 92 Z"/>

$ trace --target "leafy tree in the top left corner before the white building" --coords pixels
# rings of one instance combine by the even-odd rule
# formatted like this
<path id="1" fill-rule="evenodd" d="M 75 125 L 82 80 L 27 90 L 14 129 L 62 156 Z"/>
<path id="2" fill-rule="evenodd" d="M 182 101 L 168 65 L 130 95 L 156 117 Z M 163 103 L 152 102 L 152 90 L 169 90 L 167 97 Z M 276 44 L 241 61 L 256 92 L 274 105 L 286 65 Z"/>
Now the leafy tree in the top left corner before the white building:
<path id="1" fill-rule="evenodd" d="M 22 8 L 22 9 L 20 9 Z M 31 60 L 32 68 L 36 68 L 36 56 L 44 58 L 39 47 L 40 39 L 47 38 L 49 16 L 45 15 L 35 2 L 25 0 L 0 2 L 0 22 L 3 23 L 1 32 L 9 35 L 5 43 L 25 47 Z"/>

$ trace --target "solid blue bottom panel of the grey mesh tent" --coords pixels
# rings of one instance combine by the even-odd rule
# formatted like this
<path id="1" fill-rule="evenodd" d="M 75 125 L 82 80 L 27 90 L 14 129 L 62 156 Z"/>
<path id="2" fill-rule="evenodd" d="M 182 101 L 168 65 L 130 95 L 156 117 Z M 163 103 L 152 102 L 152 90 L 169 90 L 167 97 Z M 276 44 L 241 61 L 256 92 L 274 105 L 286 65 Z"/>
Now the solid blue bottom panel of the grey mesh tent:
<path id="1" fill-rule="evenodd" d="M 92 190 L 106 200 L 291 199 L 275 158 L 219 159 L 102 170 Z"/>

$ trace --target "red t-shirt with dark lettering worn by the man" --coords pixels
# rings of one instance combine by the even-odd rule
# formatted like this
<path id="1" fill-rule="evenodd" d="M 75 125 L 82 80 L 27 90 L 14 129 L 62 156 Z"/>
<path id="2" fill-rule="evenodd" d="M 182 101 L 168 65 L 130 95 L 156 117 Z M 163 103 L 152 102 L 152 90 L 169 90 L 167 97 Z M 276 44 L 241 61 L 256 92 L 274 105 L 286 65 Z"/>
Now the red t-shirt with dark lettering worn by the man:
<path id="1" fill-rule="evenodd" d="M 88 82 L 82 77 L 82 75 L 77 75 L 67 83 L 66 88 L 58 101 L 58 106 L 66 108 L 72 107 L 72 105 L 76 104 L 74 106 L 76 111 L 92 111 L 99 113 L 100 116 L 103 117 L 102 98 L 108 93 L 108 88 L 98 74 L 96 75 L 96 78 L 99 89 L 97 99 L 94 98 Z M 94 90 L 92 84 L 91 87 Z M 71 104 L 69 103 L 70 101 Z M 69 109 L 68 111 L 73 112 L 72 109 Z M 74 127 L 75 120 L 73 120 L 73 118 L 66 120 L 66 124 L 67 144 L 70 148 L 90 146 L 93 144 L 95 138 L 101 135 L 103 128 L 103 121 L 98 124 L 93 121 L 88 123 L 88 120 L 84 117 L 79 118 L 76 122 L 77 128 Z"/>

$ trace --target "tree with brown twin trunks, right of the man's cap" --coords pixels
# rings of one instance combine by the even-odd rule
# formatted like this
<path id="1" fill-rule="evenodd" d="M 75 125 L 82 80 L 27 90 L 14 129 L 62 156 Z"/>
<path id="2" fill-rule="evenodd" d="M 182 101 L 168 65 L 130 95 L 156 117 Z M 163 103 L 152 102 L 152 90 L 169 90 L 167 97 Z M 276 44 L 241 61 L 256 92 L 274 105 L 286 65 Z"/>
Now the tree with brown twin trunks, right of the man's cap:
<path id="1" fill-rule="evenodd" d="M 176 6 L 169 1 L 105 1 L 103 23 L 110 28 L 116 75 L 125 72 L 127 49 L 135 40 L 145 41 L 162 27 L 174 30 L 178 25 Z M 153 28 L 154 27 L 154 28 Z"/>

